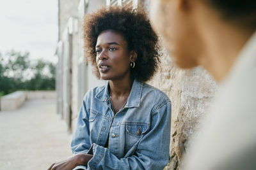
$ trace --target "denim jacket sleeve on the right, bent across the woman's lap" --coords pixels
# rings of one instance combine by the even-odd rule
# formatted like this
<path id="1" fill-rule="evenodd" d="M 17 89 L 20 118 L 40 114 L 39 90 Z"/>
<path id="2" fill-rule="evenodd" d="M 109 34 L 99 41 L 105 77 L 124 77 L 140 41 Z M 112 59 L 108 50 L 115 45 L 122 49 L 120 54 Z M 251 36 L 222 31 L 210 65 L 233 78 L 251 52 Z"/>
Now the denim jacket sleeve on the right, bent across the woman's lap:
<path id="1" fill-rule="evenodd" d="M 163 169 L 169 160 L 171 104 L 165 101 L 152 111 L 150 129 L 131 157 L 118 159 L 108 148 L 93 143 L 88 169 Z"/>

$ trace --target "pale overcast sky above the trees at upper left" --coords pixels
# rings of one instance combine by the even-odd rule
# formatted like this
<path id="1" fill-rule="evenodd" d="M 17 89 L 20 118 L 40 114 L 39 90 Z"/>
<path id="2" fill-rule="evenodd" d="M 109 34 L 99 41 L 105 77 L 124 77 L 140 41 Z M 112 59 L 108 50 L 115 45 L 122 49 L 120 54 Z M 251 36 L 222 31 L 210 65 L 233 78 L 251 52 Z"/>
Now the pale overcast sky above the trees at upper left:
<path id="1" fill-rule="evenodd" d="M 0 52 L 56 61 L 58 0 L 0 0 Z"/>

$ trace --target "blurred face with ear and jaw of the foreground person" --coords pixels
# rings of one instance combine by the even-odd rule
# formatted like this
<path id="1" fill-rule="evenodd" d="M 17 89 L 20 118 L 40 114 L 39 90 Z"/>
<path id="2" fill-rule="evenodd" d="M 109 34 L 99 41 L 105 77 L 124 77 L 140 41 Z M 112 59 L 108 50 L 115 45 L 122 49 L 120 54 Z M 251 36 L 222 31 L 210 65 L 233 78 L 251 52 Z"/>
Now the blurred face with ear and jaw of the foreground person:
<path id="1" fill-rule="evenodd" d="M 152 27 L 163 37 L 173 62 L 182 68 L 198 66 L 198 58 L 204 50 L 195 20 L 198 0 L 159 0 L 151 3 Z"/>

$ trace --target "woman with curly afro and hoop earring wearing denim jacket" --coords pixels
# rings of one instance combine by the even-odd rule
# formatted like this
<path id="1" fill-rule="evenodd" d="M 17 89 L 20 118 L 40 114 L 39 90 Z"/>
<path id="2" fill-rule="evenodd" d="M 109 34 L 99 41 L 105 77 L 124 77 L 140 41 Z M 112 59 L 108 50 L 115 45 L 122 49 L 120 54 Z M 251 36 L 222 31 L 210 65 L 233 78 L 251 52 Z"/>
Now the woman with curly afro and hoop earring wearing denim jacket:
<path id="1" fill-rule="evenodd" d="M 49 169 L 163 169 L 171 103 L 144 83 L 159 61 L 146 13 L 114 6 L 87 15 L 84 43 L 95 74 L 108 84 L 84 97 L 71 144 L 74 156 Z"/>

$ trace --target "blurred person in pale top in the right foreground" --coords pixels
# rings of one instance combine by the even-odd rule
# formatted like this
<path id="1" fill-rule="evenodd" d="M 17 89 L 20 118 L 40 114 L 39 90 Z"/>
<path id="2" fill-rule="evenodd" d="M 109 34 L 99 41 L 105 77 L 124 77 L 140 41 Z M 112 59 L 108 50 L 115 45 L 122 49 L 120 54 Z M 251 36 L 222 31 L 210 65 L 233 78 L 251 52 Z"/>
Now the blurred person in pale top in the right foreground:
<path id="1" fill-rule="evenodd" d="M 152 0 L 150 19 L 177 66 L 220 89 L 183 169 L 256 169 L 256 1 Z"/>

